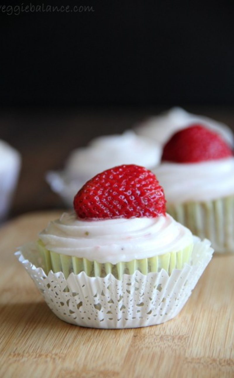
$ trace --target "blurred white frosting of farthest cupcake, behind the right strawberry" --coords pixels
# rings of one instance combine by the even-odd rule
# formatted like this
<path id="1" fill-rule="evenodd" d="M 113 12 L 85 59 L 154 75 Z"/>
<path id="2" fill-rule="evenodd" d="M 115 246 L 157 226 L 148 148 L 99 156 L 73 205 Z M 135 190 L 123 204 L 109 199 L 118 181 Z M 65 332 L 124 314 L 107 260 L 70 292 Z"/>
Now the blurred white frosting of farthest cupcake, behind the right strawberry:
<path id="1" fill-rule="evenodd" d="M 172 134 L 194 123 L 202 123 L 219 133 L 231 146 L 234 145 L 234 135 L 228 126 L 205 116 L 188 113 L 177 107 L 160 116 L 149 118 L 136 127 L 136 132 L 139 135 L 152 138 L 160 144 L 165 144 Z"/>

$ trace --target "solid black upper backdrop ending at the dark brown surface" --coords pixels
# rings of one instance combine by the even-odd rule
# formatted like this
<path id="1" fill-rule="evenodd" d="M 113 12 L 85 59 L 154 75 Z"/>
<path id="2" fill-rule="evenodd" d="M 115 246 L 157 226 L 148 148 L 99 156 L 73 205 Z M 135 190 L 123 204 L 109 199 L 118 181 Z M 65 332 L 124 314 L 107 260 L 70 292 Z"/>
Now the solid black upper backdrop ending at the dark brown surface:
<path id="1" fill-rule="evenodd" d="M 233 105 L 233 2 L 48 4 L 93 11 L 0 14 L 2 105 Z"/>

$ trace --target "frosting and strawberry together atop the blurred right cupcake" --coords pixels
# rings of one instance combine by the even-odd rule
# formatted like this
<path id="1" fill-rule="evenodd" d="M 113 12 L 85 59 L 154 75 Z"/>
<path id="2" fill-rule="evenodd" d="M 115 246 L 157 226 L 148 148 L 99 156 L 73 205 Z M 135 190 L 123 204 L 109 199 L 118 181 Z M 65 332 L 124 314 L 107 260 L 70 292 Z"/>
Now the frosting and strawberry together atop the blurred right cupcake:
<path id="1" fill-rule="evenodd" d="M 154 170 L 167 201 L 215 200 L 234 194 L 234 157 L 228 144 L 202 125 L 175 133 Z"/>

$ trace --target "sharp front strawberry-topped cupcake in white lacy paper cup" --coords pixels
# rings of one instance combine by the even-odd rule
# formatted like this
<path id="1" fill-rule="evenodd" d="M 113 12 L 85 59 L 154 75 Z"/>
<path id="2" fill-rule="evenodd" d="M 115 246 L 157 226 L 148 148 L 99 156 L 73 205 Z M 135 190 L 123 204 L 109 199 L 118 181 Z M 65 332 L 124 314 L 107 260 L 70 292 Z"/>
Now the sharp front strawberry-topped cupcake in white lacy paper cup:
<path id="1" fill-rule="evenodd" d="M 77 192 L 74 212 L 16 255 L 60 319 L 96 328 L 160 324 L 181 310 L 213 252 L 165 203 L 146 168 L 108 169 Z"/>

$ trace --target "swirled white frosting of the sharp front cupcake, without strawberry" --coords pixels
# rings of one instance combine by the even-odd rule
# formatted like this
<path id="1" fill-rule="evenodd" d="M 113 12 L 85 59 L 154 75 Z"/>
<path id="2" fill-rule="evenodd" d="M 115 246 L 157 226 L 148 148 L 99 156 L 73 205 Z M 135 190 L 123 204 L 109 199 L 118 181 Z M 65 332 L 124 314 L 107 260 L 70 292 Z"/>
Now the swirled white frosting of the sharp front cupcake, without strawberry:
<path id="1" fill-rule="evenodd" d="M 112 264 L 176 252 L 192 244 L 191 231 L 168 214 L 157 218 L 81 220 L 74 212 L 64 213 L 39 237 L 50 251 Z"/>

